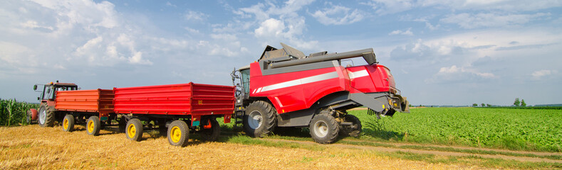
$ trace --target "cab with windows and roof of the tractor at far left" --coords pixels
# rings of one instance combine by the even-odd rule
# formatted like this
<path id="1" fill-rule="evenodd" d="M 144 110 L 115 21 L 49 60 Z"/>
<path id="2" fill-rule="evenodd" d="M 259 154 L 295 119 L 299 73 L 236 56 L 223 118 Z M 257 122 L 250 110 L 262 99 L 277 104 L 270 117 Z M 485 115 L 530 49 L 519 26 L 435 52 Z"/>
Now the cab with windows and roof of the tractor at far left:
<path id="1" fill-rule="evenodd" d="M 41 87 L 43 86 L 43 87 Z M 41 92 L 41 96 L 37 97 L 38 101 L 54 101 L 56 98 L 56 91 L 73 91 L 78 90 L 78 85 L 70 83 L 49 83 L 49 84 L 35 84 L 33 90 Z"/>

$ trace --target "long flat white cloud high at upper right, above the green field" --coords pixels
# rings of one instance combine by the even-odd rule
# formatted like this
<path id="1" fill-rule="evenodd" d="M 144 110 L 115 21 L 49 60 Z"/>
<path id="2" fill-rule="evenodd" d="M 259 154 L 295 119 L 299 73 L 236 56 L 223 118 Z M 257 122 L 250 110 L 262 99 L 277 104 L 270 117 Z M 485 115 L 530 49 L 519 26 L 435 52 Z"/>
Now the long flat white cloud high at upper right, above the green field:
<path id="1" fill-rule="evenodd" d="M 481 28 L 481 27 L 501 27 L 510 25 L 519 25 L 536 20 L 543 16 L 550 16 L 550 13 L 535 13 L 535 14 L 507 14 L 501 15 L 498 13 L 460 13 L 449 15 L 442 18 L 444 23 L 456 23 L 461 28 Z"/>

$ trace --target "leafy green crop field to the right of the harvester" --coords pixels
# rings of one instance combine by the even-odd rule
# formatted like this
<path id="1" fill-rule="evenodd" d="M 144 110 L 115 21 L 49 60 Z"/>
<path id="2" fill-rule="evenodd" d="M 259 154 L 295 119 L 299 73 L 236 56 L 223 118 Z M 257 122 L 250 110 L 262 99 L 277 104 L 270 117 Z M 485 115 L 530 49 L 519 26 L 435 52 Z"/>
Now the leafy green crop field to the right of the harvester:
<path id="1" fill-rule="evenodd" d="M 413 108 L 377 120 L 349 111 L 363 139 L 562 152 L 562 111 L 510 108 Z"/>

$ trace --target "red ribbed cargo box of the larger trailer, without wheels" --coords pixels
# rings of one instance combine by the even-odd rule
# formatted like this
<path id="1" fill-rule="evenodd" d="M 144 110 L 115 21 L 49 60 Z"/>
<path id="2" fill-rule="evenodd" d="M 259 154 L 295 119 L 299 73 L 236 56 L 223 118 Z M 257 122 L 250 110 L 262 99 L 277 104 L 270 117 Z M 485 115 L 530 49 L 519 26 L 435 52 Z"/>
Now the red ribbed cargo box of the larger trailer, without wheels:
<path id="1" fill-rule="evenodd" d="M 222 115 L 234 113 L 234 86 L 169 84 L 114 88 L 115 113 Z"/>

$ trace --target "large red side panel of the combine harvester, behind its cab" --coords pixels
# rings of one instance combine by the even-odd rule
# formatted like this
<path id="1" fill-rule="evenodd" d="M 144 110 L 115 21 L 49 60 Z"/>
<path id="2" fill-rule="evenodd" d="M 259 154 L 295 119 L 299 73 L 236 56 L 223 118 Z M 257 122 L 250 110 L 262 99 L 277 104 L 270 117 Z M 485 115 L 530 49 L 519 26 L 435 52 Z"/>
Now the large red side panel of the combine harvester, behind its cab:
<path id="1" fill-rule="evenodd" d="M 323 96 L 347 90 L 343 67 L 265 76 L 256 69 L 259 64 L 250 64 L 250 96 L 269 98 L 279 114 L 310 108 Z"/>

